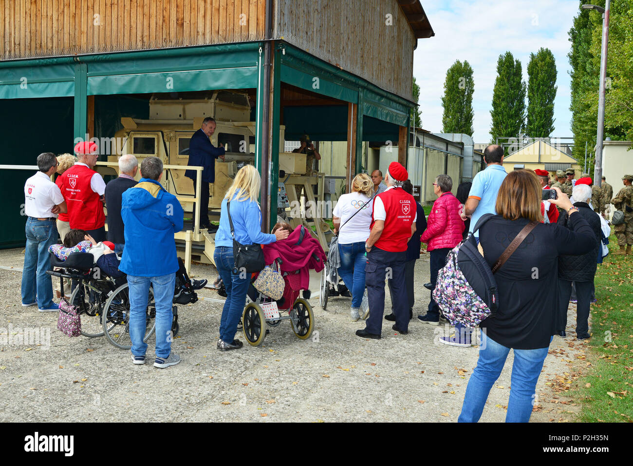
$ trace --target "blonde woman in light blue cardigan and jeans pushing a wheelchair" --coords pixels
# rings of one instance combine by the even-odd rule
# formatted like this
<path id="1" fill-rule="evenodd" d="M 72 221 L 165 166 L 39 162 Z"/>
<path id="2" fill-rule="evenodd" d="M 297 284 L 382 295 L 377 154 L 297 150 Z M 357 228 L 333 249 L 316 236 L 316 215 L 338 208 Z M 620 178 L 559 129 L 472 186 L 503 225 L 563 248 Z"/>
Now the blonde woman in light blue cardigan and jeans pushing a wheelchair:
<path id="1" fill-rule="evenodd" d="M 261 232 L 261 210 L 257 202 L 260 186 L 261 178 L 257 169 L 253 165 L 244 165 L 235 175 L 233 184 L 222 200 L 220 226 L 215 234 L 213 253 L 215 266 L 227 292 L 218 340 L 218 349 L 222 351 L 242 347 L 242 342 L 235 340 L 235 332 L 246 304 L 248 285 L 251 283 L 250 274 L 243 276 L 239 271 L 234 271 L 233 236 L 229 214 L 233 221 L 235 241 L 240 244 L 270 244 L 284 240 L 289 234 L 287 230 L 277 230 L 274 235 Z"/>

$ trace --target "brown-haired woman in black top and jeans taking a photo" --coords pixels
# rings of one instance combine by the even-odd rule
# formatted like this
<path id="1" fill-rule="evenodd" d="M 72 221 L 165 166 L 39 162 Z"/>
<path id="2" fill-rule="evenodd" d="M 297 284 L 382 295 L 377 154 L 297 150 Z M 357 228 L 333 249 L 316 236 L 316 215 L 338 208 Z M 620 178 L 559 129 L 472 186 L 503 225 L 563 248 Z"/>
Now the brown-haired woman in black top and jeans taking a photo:
<path id="1" fill-rule="evenodd" d="M 479 228 L 479 244 L 492 268 L 523 227 L 536 223 L 494 274 L 498 310 L 494 318 L 480 323 L 479 361 L 468 380 L 459 422 L 479 420 L 510 349 L 514 361 L 506 422 L 530 420 L 536 382 L 558 330 L 558 257 L 586 254 L 596 247 L 596 237 L 578 208 L 554 189 L 558 198 L 550 202 L 567 211 L 568 228 L 542 223 L 541 186 L 527 170 L 506 176 L 497 195 L 498 214 Z"/>

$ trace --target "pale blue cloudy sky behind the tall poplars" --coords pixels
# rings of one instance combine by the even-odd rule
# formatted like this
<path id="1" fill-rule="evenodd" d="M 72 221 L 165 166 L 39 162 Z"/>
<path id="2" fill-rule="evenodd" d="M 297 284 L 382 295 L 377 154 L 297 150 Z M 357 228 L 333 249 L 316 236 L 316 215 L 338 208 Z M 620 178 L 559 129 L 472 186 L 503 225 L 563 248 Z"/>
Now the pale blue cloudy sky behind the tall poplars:
<path id="1" fill-rule="evenodd" d="M 436 35 L 418 39 L 413 75 L 420 85 L 422 127 L 442 130 L 446 70 L 455 60 L 473 68 L 475 143 L 490 140 L 492 89 L 499 55 L 510 51 L 521 61 L 527 82 L 530 53 L 549 48 L 556 58 L 558 91 L 553 137 L 570 137 L 568 31 L 577 14 L 577 0 L 421 0 Z M 596 89 L 596 98 L 598 90 Z M 527 105 L 527 100 L 526 100 Z M 508 136 L 513 136 L 508 134 Z"/>

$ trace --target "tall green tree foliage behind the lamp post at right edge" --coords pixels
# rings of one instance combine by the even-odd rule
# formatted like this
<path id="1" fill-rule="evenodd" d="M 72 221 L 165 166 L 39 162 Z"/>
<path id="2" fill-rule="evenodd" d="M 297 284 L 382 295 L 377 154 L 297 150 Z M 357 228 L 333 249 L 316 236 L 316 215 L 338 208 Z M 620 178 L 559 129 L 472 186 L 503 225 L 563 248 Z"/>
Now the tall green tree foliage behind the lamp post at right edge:
<path id="1" fill-rule="evenodd" d="M 573 157 L 584 164 L 587 142 L 593 172 L 593 152 L 598 125 L 598 90 L 602 42 L 602 15 L 581 10 L 569 31 L 568 54 L 572 71 L 571 105 Z M 605 6 L 604 0 L 592 2 Z M 605 138 L 633 141 L 633 0 L 611 1 L 609 49 L 606 68 Z"/>

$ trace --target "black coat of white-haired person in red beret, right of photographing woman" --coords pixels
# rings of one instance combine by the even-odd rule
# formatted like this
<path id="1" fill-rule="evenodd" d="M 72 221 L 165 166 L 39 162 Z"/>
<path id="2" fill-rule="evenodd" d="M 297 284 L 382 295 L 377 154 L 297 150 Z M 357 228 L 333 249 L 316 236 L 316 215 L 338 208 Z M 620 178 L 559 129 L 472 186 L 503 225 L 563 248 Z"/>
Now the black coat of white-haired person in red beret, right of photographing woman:
<path id="1" fill-rule="evenodd" d="M 596 245 L 594 249 L 582 254 L 582 256 L 560 256 L 558 257 L 558 278 L 562 280 L 569 280 L 570 282 L 593 282 L 594 275 L 596 275 L 596 264 L 598 263 L 598 252 L 600 251 L 600 242 L 602 239 L 602 225 L 598 214 L 589 208 L 589 204 L 586 202 L 576 202 L 575 207 L 578 207 L 578 213 L 584 218 L 591 230 L 594 232 L 596 238 L 594 239 Z M 567 213 L 558 216 L 557 223 L 571 228 L 569 225 Z"/>

